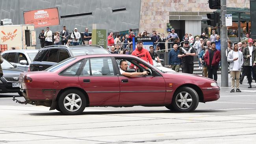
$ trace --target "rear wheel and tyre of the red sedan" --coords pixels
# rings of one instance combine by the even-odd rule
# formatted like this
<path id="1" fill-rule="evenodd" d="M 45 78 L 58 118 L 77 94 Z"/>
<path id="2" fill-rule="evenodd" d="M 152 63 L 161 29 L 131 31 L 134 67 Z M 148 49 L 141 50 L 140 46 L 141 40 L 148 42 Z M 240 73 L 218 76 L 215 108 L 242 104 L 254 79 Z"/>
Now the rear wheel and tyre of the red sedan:
<path id="1" fill-rule="evenodd" d="M 86 98 L 80 90 L 70 89 L 60 95 L 58 105 L 63 114 L 77 115 L 85 109 Z"/>

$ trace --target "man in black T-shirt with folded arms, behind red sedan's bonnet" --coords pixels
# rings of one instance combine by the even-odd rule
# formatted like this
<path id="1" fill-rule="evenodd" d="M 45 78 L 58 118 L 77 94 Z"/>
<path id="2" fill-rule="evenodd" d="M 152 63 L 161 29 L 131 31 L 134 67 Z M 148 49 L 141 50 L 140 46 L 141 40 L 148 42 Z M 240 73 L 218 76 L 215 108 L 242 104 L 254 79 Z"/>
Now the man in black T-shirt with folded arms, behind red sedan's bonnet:
<path id="1" fill-rule="evenodd" d="M 180 54 L 178 54 L 182 62 L 182 72 L 193 74 L 194 56 L 196 56 L 195 48 L 189 46 L 189 41 L 185 41 L 184 47 L 180 48 Z"/>

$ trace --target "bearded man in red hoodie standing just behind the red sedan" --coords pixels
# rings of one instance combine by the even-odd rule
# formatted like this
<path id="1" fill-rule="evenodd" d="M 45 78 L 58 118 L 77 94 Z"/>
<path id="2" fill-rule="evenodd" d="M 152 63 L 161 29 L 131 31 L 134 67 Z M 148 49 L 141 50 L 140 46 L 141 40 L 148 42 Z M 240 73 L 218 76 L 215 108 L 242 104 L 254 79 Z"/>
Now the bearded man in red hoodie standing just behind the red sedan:
<path id="1" fill-rule="evenodd" d="M 137 57 L 143 59 L 144 61 L 147 61 L 151 65 L 153 65 L 152 58 L 151 58 L 148 50 L 143 48 L 143 42 L 142 41 L 137 42 L 137 48 L 132 52 L 132 55 L 137 56 Z"/>

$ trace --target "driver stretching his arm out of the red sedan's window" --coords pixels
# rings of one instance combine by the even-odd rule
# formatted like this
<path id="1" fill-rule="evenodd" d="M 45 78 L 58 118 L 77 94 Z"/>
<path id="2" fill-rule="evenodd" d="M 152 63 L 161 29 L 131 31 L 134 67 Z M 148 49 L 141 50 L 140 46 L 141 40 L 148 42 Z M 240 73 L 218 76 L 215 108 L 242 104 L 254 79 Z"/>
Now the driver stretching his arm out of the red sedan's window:
<path id="1" fill-rule="evenodd" d="M 122 60 L 120 61 L 120 74 L 122 76 L 128 76 L 128 77 L 135 77 L 135 76 L 147 76 L 148 72 L 144 71 L 144 72 L 125 72 L 128 68 L 128 63 L 126 62 L 126 60 Z"/>

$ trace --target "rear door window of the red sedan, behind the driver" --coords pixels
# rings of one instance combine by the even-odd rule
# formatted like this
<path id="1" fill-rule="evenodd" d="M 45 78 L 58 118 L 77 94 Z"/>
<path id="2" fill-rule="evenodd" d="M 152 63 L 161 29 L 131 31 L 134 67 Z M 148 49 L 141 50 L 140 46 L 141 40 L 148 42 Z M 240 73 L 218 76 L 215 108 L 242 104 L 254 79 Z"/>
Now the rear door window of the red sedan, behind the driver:
<path id="1" fill-rule="evenodd" d="M 90 70 L 91 66 L 91 70 Z M 111 57 L 91 58 L 86 61 L 81 76 L 114 76 Z"/>

